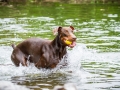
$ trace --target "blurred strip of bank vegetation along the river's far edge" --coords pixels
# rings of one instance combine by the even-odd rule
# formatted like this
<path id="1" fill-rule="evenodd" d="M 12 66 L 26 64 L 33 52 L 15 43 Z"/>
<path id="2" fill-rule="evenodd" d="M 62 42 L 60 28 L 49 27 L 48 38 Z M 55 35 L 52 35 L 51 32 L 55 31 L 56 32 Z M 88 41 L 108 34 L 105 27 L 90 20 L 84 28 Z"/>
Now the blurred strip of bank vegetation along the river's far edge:
<path id="1" fill-rule="evenodd" d="M 0 5 L 6 4 L 41 4 L 45 2 L 61 2 L 61 3 L 70 3 L 70 4 L 120 4 L 120 0 L 0 0 Z"/>

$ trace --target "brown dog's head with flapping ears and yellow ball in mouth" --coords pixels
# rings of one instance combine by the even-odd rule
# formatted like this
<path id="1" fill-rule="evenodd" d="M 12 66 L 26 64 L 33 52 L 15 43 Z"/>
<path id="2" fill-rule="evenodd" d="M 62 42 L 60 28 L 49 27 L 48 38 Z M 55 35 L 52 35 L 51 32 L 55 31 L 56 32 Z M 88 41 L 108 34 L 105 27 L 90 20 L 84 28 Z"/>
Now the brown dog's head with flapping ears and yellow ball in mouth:
<path id="1" fill-rule="evenodd" d="M 53 33 L 58 33 L 62 44 L 73 48 L 76 45 L 76 36 L 74 35 L 74 27 L 58 27 Z"/>

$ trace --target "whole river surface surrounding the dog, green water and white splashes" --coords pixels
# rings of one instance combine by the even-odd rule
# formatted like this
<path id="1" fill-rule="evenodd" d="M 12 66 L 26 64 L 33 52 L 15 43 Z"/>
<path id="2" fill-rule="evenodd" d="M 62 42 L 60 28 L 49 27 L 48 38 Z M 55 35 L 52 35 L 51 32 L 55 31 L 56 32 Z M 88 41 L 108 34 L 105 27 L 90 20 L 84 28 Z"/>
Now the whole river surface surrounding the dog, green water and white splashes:
<path id="1" fill-rule="evenodd" d="M 68 66 L 46 70 L 13 65 L 12 43 L 30 37 L 52 40 L 54 28 L 69 25 L 75 28 L 77 45 L 67 50 Z M 0 90 L 52 90 L 66 83 L 77 90 L 120 90 L 120 5 L 0 6 Z M 18 89 L 12 89 L 15 85 Z"/>

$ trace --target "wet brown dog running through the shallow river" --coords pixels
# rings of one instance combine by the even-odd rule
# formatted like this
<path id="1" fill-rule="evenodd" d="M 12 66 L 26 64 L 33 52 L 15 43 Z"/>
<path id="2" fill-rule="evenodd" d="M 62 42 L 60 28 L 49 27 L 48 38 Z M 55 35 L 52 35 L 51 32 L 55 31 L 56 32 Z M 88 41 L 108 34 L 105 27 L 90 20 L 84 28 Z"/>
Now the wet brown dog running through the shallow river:
<path id="1" fill-rule="evenodd" d="M 37 68 L 54 68 L 67 53 L 66 46 L 73 48 L 76 45 L 76 36 L 73 34 L 74 28 L 59 27 L 54 30 L 58 32 L 54 40 L 40 38 L 30 38 L 16 47 L 12 45 L 13 52 L 11 60 L 16 66 L 21 63 L 27 66 L 27 60 L 34 63 Z M 71 44 L 67 44 L 66 40 Z"/>

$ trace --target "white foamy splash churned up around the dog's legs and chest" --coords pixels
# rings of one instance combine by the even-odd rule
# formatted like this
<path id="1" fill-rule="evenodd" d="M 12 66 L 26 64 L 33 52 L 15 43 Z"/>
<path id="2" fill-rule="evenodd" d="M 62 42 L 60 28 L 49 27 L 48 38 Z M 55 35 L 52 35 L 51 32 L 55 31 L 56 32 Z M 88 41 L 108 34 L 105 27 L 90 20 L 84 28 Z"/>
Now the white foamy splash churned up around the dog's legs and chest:
<path id="1" fill-rule="evenodd" d="M 77 45 L 73 50 L 68 50 L 68 66 L 66 68 L 60 68 L 59 65 L 53 70 L 46 69 L 37 69 L 33 64 L 29 67 L 15 67 L 10 59 L 10 55 L 12 52 L 12 48 L 8 46 L 0 47 L 0 76 L 23 76 L 27 74 L 50 74 L 53 72 L 62 72 L 66 73 L 66 71 L 74 72 L 76 70 L 80 70 L 81 68 L 81 60 L 84 57 L 84 54 L 89 52 L 85 45 Z M 87 51 L 87 52 L 86 52 Z M 3 54 L 4 53 L 4 54 Z"/>

